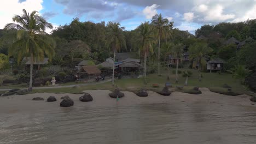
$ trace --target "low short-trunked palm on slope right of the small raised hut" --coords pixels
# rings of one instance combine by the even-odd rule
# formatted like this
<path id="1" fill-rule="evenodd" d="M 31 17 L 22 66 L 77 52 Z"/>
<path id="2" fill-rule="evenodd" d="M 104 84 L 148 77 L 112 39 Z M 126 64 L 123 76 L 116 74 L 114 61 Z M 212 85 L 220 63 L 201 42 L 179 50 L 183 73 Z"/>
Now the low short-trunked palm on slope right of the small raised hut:
<path id="1" fill-rule="evenodd" d="M 245 78 L 248 76 L 252 70 L 249 70 L 245 67 L 245 65 L 236 65 L 234 69 L 227 70 L 229 73 L 235 77 L 235 79 L 239 79 L 241 84 L 245 84 Z"/>

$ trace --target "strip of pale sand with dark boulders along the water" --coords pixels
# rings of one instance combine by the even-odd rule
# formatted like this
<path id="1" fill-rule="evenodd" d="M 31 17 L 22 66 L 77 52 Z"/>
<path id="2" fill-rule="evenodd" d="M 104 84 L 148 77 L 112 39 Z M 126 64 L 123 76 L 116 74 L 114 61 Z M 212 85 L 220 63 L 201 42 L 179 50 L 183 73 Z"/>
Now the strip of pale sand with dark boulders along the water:
<path id="1" fill-rule="evenodd" d="M 76 107 L 102 107 L 102 106 L 126 106 L 136 104 L 217 104 L 223 105 L 236 105 L 236 106 L 251 106 L 256 107 L 256 103 L 249 100 L 248 95 L 228 96 L 218 93 L 210 92 L 208 88 L 200 88 L 202 94 L 188 94 L 181 92 L 173 92 L 170 96 L 162 96 L 153 91 L 148 91 L 148 97 L 138 97 L 135 93 L 124 92 L 125 97 L 120 98 L 117 102 L 116 99 L 110 98 L 108 90 L 94 90 L 84 91 L 90 93 L 94 98 L 91 102 L 79 101 L 79 97 L 83 94 L 51 94 L 51 93 L 34 93 L 26 95 L 11 95 L 7 97 L 0 97 L 0 113 L 19 113 L 19 112 L 37 112 L 39 110 L 55 110 L 55 109 L 75 109 Z M 72 107 L 60 107 L 61 97 L 68 95 L 74 101 Z M 54 96 L 57 101 L 46 102 L 49 96 Z M 41 97 L 43 101 L 32 101 L 32 98 Z"/>

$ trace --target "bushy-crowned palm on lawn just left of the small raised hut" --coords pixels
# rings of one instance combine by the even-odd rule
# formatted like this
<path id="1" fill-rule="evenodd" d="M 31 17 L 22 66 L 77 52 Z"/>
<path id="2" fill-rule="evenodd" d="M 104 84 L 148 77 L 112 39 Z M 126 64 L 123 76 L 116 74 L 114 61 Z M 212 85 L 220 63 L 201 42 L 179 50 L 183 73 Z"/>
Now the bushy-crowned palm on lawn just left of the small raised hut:
<path id="1" fill-rule="evenodd" d="M 201 81 L 201 70 L 202 66 L 206 65 L 205 58 L 208 53 L 212 52 L 212 49 L 207 46 L 207 43 L 205 42 L 199 42 L 191 45 L 189 47 L 189 57 L 192 59 L 194 62 L 193 65 L 198 65 L 198 71 L 199 71 L 199 81 Z"/>

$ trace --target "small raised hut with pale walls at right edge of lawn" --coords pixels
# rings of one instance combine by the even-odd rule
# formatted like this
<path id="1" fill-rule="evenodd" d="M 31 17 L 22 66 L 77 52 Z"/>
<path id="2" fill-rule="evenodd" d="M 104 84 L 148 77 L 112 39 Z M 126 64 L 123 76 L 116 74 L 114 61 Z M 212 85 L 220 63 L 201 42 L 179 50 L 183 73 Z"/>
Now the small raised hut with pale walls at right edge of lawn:
<path id="1" fill-rule="evenodd" d="M 224 63 L 225 62 L 223 61 L 223 59 L 214 58 L 211 61 L 207 62 L 207 70 L 210 70 L 210 73 L 212 73 L 212 71 L 223 70 L 223 64 Z"/>

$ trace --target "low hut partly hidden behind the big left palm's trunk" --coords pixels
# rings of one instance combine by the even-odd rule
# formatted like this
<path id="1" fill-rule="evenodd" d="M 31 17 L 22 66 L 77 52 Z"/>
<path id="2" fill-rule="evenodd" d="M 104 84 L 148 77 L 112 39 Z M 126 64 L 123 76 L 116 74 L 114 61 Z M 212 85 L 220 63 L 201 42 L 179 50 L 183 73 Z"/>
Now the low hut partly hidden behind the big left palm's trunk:
<path id="1" fill-rule="evenodd" d="M 34 70 L 40 70 L 42 65 L 47 64 L 49 61 L 48 57 L 44 57 L 41 61 L 38 58 L 33 58 L 33 69 Z M 27 68 L 30 68 L 30 57 L 25 57 L 22 62 L 24 62 L 24 65 L 26 65 Z"/>

